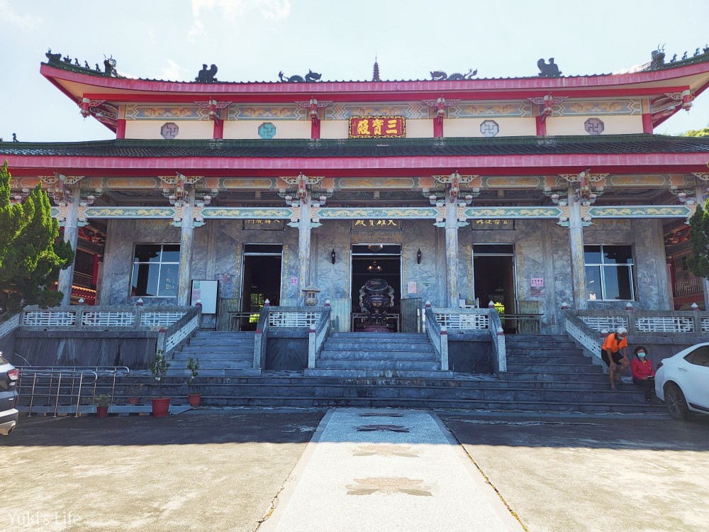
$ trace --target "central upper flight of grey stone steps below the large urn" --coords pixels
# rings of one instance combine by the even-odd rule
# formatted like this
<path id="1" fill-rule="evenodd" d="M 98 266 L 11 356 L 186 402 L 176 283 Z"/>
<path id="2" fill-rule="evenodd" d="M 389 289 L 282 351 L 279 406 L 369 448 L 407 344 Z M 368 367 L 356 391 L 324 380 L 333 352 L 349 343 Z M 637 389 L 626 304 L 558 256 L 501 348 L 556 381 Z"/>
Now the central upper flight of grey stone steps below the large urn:
<path id="1" fill-rule="evenodd" d="M 452 377 L 440 370 L 428 336 L 413 333 L 331 333 L 306 377 Z"/>

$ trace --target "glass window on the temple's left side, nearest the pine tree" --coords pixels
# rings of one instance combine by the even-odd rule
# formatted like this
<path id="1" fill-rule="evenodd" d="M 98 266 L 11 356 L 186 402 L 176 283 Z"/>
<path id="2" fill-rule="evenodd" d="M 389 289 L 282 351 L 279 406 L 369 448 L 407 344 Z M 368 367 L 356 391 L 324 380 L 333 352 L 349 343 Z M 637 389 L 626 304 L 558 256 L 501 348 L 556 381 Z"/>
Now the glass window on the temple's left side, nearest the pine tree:
<path id="1" fill-rule="evenodd" d="M 130 295 L 177 297 L 179 244 L 137 244 Z"/>

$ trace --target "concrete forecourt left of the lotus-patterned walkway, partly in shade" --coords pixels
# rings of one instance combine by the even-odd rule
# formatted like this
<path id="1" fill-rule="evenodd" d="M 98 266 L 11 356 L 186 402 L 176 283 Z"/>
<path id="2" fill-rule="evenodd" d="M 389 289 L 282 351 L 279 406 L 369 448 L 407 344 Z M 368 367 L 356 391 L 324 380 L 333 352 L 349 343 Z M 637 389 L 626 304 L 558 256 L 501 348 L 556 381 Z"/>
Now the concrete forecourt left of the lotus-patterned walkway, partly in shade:
<path id="1" fill-rule="evenodd" d="M 21 417 L 0 440 L 0 531 L 254 531 L 323 414 Z"/>

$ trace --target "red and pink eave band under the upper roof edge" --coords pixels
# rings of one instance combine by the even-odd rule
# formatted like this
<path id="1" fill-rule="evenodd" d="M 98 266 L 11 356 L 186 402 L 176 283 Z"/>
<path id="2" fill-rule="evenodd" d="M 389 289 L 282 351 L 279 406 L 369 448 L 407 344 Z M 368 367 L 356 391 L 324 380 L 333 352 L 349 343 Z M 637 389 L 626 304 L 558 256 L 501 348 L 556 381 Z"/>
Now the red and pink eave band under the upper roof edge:
<path id="1" fill-rule="evenodd" d="M 42 65 L 40 72 L 57 84 L 65 80 L 96 87 L 96 92 L 86 94 L 96 99 L 110 101 L 194 101 L 194 97 L 228 99 L 232 101 L 295 101 L 320 99 L 334 101 L 405 101 L 430 98 L 431 93 L 446 97 L 501 99 L 554 95 L 569 97 L 591 96 L 650 96 L 662 92 L 677 92 L 681 85 L 673 80 L 694 74 L 709 73 L 709 63 L 696 63 L 686 67 L 632 74 L 605 74 L 587 77 L 539 78 L 522 77 L 506 79 L 464 79 L 457 81 L 392 81 L 392 82 L 245 82 L 245 83 L 188 83 L 157 80 L 100 77 Z M 638 84 L 667 82 L 663 87 L 637 87 Z M 683 84 L 686 86 L 686 83 Z M 106 92 L 101 88 L 108 89 Z M 128 92 L 128 94 L 125 94 Z M 139 94 L 143 92 L 143 94 Z M 158 94 L 164 93 L 164 94 Z"/>

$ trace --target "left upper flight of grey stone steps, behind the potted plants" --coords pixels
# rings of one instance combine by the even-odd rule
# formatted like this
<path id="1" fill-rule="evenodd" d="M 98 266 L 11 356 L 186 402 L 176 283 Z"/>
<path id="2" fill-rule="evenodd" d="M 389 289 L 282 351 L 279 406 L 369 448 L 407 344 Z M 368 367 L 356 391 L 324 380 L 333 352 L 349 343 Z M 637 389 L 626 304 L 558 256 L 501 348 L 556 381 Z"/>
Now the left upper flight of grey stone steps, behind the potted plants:
<path id="1" fill-rule="evenodd" d="M 190 357 L 199 358 L 199 378 L 259 375 L 253 369 L 254 336 L 252 332 L 198 331 L 169 360 L 167 377 L 189 377 Z"/>

